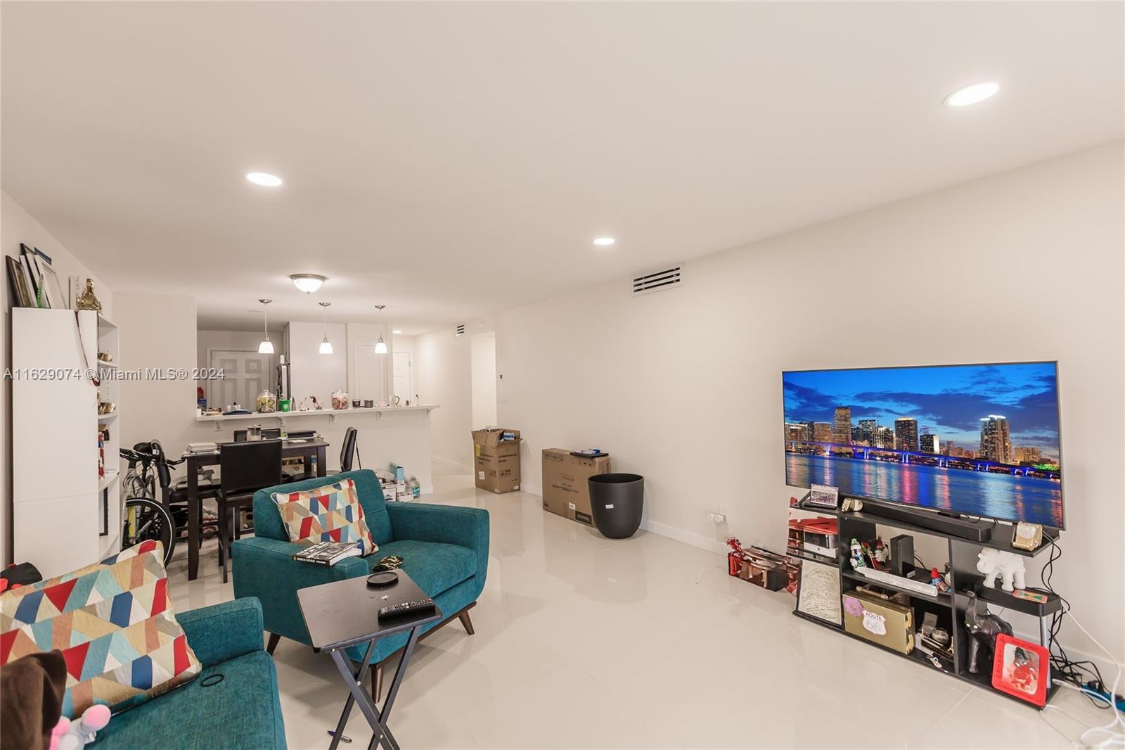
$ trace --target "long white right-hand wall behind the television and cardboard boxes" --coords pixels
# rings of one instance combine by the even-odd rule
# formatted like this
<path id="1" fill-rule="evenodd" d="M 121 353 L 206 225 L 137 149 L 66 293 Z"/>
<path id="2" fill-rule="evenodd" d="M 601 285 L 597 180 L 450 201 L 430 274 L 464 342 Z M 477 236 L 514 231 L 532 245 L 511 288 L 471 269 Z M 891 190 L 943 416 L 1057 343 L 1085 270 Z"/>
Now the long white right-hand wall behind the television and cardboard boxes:
<path id="1" fill-rule="evenodd" d="M 1058 359 L 1069 527 L 1054 583 L 1120 659 L 1122 160 L 1117 142 L 708 256 L 672 292 L 631 298 L 622 278 L 507 311 L 500 423 L 523 431 L 525 489 L 541 448 L 597 445 L 646 476 L 649 528 L 781 550 L 795 492 L 782 370 Z M 721 533 L 705 519 L 720 503 Z"/>

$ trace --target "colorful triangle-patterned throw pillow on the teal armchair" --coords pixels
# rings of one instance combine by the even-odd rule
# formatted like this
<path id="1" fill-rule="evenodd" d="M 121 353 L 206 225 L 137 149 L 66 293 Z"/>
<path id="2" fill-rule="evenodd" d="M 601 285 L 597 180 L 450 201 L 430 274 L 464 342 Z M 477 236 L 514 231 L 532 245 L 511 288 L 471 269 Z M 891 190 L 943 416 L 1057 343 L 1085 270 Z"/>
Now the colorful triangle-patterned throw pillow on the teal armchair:
<path id="1" fill-rule="evenodd" d="M 363 519 L 356 482 L 348 479 L 300 492 L 274 492 L 290 542 L 361 542 L 363 554 L 379 547 Z"/>

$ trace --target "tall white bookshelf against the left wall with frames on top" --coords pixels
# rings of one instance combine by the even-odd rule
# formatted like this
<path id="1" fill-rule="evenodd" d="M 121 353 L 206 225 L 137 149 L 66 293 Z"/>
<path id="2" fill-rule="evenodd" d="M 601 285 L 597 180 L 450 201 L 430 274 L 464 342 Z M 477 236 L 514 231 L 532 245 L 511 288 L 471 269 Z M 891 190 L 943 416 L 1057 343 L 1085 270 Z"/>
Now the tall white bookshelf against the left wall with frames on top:
<path id="1" fill-rule="evenodd" d="M 51 578 L 119 548 L 120 413 L 98 414 L 99 390 L 102 400 L 120 403 L 119 383 L 98 366 L 98 351 L 119 365 L 117 328 L 94 312 L 75 320 L 73 310 L 15 307 L 11 329 L 14 556 Z M 100 386 L 86 376 L 88 364 L 101 370 Z M 109 430 L 105 476 L 98 475 L 100 427 Z"/>

